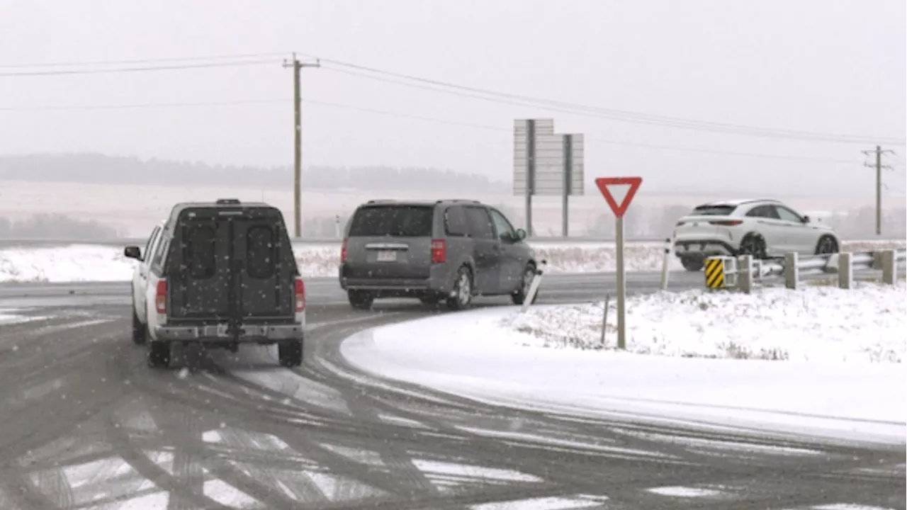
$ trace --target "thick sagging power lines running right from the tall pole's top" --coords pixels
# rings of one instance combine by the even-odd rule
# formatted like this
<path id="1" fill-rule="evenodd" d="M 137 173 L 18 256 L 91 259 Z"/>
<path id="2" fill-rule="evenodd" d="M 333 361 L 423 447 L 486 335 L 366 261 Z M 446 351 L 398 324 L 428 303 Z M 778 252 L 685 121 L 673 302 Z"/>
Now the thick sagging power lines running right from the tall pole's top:
<path id="1" fill-rule="evenodd" d="M 808 131 L 796 131 L 796 130 L 785 130 L 785 129 L 776 129 L 776 128 L 764 128 L 756 126 L 746 126 L 742 124 L 732 124 L 732 123 L 714 123 L 707 121 L 698 121 L 692 119 L 682 119 L 678 117 L 668 117 L 662 115 L 653 115 L 649 113 L 637 113 L 629 112 L 624 110 L 614 110 L 608 108 L 600 108 L 595 106 L 588 106 L 578 103 L 567 103 L 561 101 L 553 101 L 549 99 L 541 99 L 538 97 L 525 96 L 514 93 L 501 93 L 497 91 L 492 91 L 488 89 L 482 89 L 478 87 L 470 87 L 465 85 L 460 85 L 456 83 L 447 83 L 438 80 L 431 80 L 428 78 L 423 78 L 419 76 L 414 76 L 410 74 L 399 74 L 392 73 L 389 71 L 384 71 L 381 69 L 376 69 L 374 67 L 368 67 L 365 65 L 359 64 L 350 64 L 346 62 L 341 62 L 333 59 L 322 58 L 321 61 L 325 64 L 334 64 L 340 67 L 346 67 L 348 69 L 355 69 L 357 71 L 365 71 L 366 73 L 355 73 L 349 70 L 341 70 L 336 67 L 325 65 L 326 69 L 335 71 L 335 72 L 344 72 L 345 74 L 356 75 L 368 79 L 375 79 L 378 81 L 383 81 L 387 83 L 395 83 L 404 86 L 413 86 L 415 88 L 423 88 L 427 90 L 434 90 L 441 93 L 454 93 L 455 95 L 465 95 L 466 97 L 473 97 L 475 99 L 483 99 L 485 101 L 493 101 L 497 103 L 512 103 L 518 104 L 521 106 L 534 106 L 537 108 L 551 110 L 555 112 L 564 112 L 564 113 L 575 113 L 580 115 L 587 115 L 593 117 L 600 117 L 609 119 L 612 121 L 626 122 L 626 123 L 641 123 L 656 125 L 661 127 L 671 127 L 678 129 L 688 129 L 696 131 L 706 131 L 706 132 L 717 132 L 721 134 L 736 134 L 736 135 L 746 135 L 746 136 L 758 136 L 764 138 L 785 138 L 785 139 L 794 139 L 794 140 L 803 140 L 808 142 L 838 142 L 838 143 L 867 143 L 867 142 L 885 142 L 892 145 L 904 145 L 907 144 L 907 140 L 904 139 L 893 139 L 887 137 L 870 137 L 870 136 L 859 136 L 859 135 L 846 135 L 846 134 L 837 134 L 837 133 L 826 133 L 826 132 L 808 132 Z M 378 74 L 379 76 L 375 76 Z M 382 76 L 383 75 L 383 76 Z M 386 78 L 387 76 L 397 78 L 397 80 L 391 80 Z M 406 80 L 406 81 L 400 81 Z M 408 81 L 408 82 L 407 82 Z M 409 83 L 415 82 L 415 83 Z M 417 86 L 422 85 L 422 86 Z M 432 85 L 431 87 L 425 85 Z M 439 88 L 441 87 L 441 88 Z M 478 95 L 483 94 L 483 95 Z M 488 97 L 491 96 L 491 97 Z M 514 103 L 517 102 L 517 103 Z"/>

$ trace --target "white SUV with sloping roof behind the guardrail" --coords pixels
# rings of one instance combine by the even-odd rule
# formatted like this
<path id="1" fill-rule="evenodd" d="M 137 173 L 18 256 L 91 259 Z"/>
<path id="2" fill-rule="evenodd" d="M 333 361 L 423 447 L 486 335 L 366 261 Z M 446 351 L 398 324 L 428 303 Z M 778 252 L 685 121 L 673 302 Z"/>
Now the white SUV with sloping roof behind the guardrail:
<path id="1" fill-rule="evenodd" d="M 687 270 L 701 270 L 713 255 L 836 253 L 831 227 L 810 221 L 775 200 L 716 201 L 698 206 L 674 227 L 674 253 Z"/>

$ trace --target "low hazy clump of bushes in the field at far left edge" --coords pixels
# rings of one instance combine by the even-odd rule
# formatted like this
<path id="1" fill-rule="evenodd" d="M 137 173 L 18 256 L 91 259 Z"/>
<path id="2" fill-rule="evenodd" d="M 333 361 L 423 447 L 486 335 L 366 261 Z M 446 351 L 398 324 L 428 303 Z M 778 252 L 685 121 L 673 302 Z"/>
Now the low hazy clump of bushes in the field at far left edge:
<path id="1" fill-rule="evenodd" d="M 0 239 L 105 240 L 121 232 L 98 221 L 83 221 L 64 214 L 35 214 L 25 220 L 0 217 Z"/>

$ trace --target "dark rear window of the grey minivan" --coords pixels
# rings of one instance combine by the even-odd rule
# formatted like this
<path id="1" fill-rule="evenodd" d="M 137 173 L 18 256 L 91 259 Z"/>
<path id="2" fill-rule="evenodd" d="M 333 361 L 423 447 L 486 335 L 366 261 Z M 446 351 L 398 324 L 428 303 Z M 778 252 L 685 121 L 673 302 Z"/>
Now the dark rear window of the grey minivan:
<path id="1" fill-rule="evenodd" d="M 349 237 L 432 237 L 434 208 L 380 205 L 359 208 Z"/>

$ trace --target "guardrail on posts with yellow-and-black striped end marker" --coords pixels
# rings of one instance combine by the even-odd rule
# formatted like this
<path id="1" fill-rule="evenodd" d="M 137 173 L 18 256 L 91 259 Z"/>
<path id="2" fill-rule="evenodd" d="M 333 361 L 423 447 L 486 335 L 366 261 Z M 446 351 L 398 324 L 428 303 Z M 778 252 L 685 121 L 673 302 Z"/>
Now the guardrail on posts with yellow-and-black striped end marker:
<path id="1" fill-rule="evenodd" d="M 830 253 L 827 255 L 799 255 L 788 253 L 783 259 L 756 260 L 752 255 L 740 257 L 710 257 L 706 272 L 706 287 L 710 289 L 738 289 L 749 293 L 753 286 L 764 280 L 781 277 L 787 289 L 797 289 L 801 276 L 834 274 L 838 287 L 853 287 L 854 270 L 881 270 L 882 281 L 894 285 L 898 267 L 907 262 L 907 250 L 878 250 Z"/>

